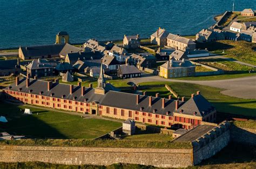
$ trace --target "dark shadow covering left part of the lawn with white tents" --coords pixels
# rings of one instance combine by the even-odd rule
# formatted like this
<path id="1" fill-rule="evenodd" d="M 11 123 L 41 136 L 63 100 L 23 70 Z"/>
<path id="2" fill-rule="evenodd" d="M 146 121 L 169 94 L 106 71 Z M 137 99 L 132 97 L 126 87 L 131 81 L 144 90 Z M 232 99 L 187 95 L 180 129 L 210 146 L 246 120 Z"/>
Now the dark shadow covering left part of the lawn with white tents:
<path id="1" fill-rule="evenodd" d="M 37 118 L 47 111 L 32 111 L 33 115 L 24 116 L 24 109 L 14 104 L 0 103 L 1 115 L 6 116 L 8 123 L 1 125 L 1 130 L 10 134 L 24 135 L 28 138 L 63 138 L 64 134 Z M 38 113 L 38 115 L 37 115 Z"/>

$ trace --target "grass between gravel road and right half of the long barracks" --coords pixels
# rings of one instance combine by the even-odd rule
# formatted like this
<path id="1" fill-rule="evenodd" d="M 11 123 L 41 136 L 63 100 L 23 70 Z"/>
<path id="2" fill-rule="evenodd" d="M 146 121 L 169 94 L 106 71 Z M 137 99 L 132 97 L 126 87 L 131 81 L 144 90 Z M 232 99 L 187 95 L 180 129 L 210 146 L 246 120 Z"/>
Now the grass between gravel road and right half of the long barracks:
<path id="1" fill-rule="evenodd" d="M 177 82 L 146 82 L 140 83 L 143 91 L 147 91 L 147 95 L 154 96 L 156 93 L 160 97 L 166 97 L 171 94 L 165 88 L 165 84 L 172 87 L 174 91 L 179 93 L 179 96 L 185 96 L 186 99 L 191 98 L 192 93 L 201 91 L 203 96 L 211 102 L 219 112 L 231 114 L 239 114 L 243 116 L 256 117 L 256 99 L 241 99 L 236 97 L 226 96 L 221 94 L 222 89 L 198 84 L 177 83 Z"/>

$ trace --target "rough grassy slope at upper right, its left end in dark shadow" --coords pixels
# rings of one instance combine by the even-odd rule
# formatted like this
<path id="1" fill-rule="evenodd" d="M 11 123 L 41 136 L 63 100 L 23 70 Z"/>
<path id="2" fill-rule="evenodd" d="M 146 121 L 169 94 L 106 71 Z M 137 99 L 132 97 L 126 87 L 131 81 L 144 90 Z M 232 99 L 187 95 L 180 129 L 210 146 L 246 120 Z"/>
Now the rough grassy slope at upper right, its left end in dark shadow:
<path id="1" fill-rule="evenodd" d="M 233 40 L 219 40 L 204 44 L 197 44 L 198 48 L 207 48 L 212 53 L 224 55 L 228 58 L 240 60 L 245 63 L 256 65 L 256 49 L 255 43 Z M 224 50 L 224 54 L 222 53 Z"/>

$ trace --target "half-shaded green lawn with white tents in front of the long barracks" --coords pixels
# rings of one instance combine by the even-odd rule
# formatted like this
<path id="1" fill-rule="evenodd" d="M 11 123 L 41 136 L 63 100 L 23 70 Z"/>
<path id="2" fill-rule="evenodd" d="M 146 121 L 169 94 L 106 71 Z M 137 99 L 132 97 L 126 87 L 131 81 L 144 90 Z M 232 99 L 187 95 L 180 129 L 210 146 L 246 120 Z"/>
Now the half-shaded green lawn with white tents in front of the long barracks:
<path id="1" fill-rule="evenodd" d="M 114 121 L 83 119 L 67 113 L 27 107 L 33 112 L 29 116 L 20 111 L 22 109 L 24 112 L 25 108 L 26 106 L 1 103 L 1 114 L 9 120 L 3 125 L 3 130 L 38 138 L 92 139 L 122 126 Z"/>

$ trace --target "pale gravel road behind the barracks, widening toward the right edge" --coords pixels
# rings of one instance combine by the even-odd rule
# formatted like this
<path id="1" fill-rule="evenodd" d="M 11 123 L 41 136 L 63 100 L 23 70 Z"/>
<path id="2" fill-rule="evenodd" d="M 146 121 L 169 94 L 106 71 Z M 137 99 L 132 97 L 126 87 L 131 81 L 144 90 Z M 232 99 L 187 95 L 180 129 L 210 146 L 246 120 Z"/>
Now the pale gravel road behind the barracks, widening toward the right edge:
<path id="1" fill-rule="evenodd" d="M 224 79 L 224 80 L 178 80 L 165 79 L 159 76 L 143 74 L 140 78 L 126 79 L 127 82 L 142 83 L 142 82 L 182 82 L 206 85 L 225 89 L 221 93 L 232 97 L 244 99 L 256 99 L 256 76 Z"/>

